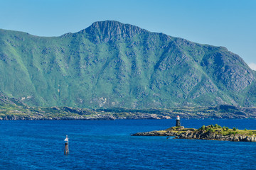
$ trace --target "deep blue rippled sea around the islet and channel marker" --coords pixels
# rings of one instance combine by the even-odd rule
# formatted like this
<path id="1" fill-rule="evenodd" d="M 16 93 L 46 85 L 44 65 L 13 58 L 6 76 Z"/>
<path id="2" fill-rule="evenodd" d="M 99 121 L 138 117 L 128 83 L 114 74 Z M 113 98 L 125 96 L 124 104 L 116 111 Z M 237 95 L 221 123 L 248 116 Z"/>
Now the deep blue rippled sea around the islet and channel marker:
<path id="1" fill-rule="evenodd" d="M 256 120 L 181 120 L 256 129 Z M 175 120 L 0 121 L 1 169 L 256 169 L 256 142 L 135 137 Z M 70 154 L 64 155 L 65 135 Z"/>

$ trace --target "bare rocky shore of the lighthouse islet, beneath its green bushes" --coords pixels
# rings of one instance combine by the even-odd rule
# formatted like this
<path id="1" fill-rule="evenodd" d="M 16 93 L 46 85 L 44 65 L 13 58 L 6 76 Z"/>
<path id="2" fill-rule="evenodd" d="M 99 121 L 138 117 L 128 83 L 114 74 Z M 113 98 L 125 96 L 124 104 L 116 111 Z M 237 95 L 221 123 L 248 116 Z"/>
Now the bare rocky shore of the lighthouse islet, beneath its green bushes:
<path id="1" fill-rule="evenodd" d="M 243 130 L 242 130 L 243 131 Z M 252 135 L 246 135 L 242 132 L 232 132 L 230 130 L 228 135 L 222 135 L 220 130 L 212 132 L 210 130 L 194 129 L 194 128 L 177 128 L 172 127 L 166 130 L 151 131 L 151 132 L 138 132 L 132 136 L 175 136 L 176 139 L 189 139 L 189 140 L 221 140 L 232 142 L 256 142 L 256 130 L 252 131 Z"/>

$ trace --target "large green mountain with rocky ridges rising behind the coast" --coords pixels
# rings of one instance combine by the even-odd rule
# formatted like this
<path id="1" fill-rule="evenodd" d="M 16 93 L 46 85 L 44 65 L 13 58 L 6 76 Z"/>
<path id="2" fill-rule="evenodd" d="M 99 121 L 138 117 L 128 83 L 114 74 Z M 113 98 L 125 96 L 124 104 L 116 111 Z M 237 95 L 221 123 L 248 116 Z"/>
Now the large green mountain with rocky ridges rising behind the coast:
<path id="1" fill-rule="evenodd" d="M 0 79 L 31 106 L 256 105 L 255 72 L 225 47 L 117 21 L 53 38 L 0 30 Z"/>

